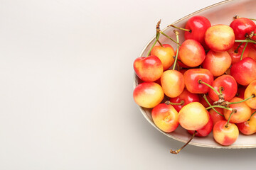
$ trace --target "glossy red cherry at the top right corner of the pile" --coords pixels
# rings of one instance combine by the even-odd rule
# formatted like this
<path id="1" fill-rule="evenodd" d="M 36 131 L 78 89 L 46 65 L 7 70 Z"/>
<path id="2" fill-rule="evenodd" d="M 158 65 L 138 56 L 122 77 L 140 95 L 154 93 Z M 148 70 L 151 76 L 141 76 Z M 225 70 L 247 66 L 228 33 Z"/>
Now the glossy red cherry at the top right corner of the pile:
<path id="1" fill-rule="evenodd" d="M 234 30 L 236 40 L 245 40 L 246 34 L 250 35 L 256 29 L 255 23 L 248 18 L 237 18 L 230 23 L 230 27 Z"/>

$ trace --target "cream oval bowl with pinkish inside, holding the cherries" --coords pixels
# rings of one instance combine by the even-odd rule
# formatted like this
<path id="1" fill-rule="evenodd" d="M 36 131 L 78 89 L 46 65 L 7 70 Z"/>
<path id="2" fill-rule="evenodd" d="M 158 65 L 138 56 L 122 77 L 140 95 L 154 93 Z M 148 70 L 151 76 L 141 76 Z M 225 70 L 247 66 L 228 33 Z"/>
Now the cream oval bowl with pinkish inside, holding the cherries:
<path id="1" fill-rule="evenodd" d="M 256 1 L 255 0 L 228 0 L 228 1 L 222 1 L 218 4 L 214 4 L 212 6 L 208 6 L 206 8 L 203 8 L 199 11 L 196 11 L 194 13 L 191 13 L 188 16 L 185 16 L 175 23 L 173 23 L 175 26 L 179 26 L 181 28 L 184 28 L 186 21 L 188 21 L 188 18 L 191 18 L 191 16 L 205 16 L 210 21 L 211 25 L 215 24 L 227 24 L 229 25 L 233 21 L 233 16 L 238 15 L 241 17 L 247 17 L 247 18 L 256 18 Z M 162 29 L 164 33 L 168 34 L 171 38 L 174 38 L 176 40 L 176 36 L 174 35 L 174 28 L 165 28 Z M 183 42 L 183 31 L 180 32 L 180 42 Z M 151 45 L 154 43 L 154 38 L 152 38 L 149 43 L 144 47 L 142 50 L 142 53 L 140 57 L 146 56 L 147 52 L 149 52 L 149 49 Z M 164 43 L 170 44 L 174 49 L 176 48 L 176 44 L 174 42 L 171 42 L 168 38 L 164 36 L 160 36 L 159 40 Z M 135 75 L 134 77 L 134 88 L 138 85 L 138 77 Z M 154 125 L 154 122 L 151 118 L 151 109 L 142 108 L 139 107 L 140 111 L 146 118 L 146 120 L 151 123 L 157 130 L 159 128 Z M 174 140 L 178 140 L 180 142 L 187 142 L 191 135 L 186 132 L 183 128 L 180 126 L 171 133 L 166 133 L 161 130 L 159 132 L 163 133 L 164 135 L 173 138 Z M 208 137 L 194 137 L 193 140 L 190 142 L 190 145 L 195 145 L 198 147 L 213 147 L 213 148 L 254 148 L 256 147 L 256 134 L 255 135 L 242 135 L 240 134 L 238 137 L 238 140 L 233 143 L 233 145 L 230 145 L 228 147 L 224 147 L 222 145 L 219 145 L 215 140 L 213 139 L 213 134 L 210 133 Z"/>

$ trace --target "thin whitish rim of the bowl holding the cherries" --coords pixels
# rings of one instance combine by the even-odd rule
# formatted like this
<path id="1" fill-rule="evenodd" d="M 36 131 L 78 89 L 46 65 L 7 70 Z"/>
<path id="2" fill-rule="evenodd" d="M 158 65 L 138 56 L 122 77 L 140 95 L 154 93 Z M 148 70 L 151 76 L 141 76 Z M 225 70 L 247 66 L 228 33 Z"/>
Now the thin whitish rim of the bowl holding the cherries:
<path id="1" fill-rule="evenodd" d="M 212 4 L 210 6 L 207 6 L 205 8 L 201 8 L 199 9 L 198 11 L 195 11 L 193 13 L 190 13 L 188 14 L 187 16 L 184 16 L 183 18 L 180 18 L 178 19 L 177 21 L 175 21 L 174 23 L 172 24 L 176 24 L 180 21 L 183 21 L 185 20 L 186 18 L 189 18 L 193 15 L 195 15 L 196 13 L 200 13 L 201 11 L 205 11 L 207 10 L 208 8 L 213 8 L 215 6 L 219 6 L 219 5 L 222 5 L 222 4 L 226 4 L 230 1 L 236 1 L 236 0 L 225 0 L 225 1 L 220 1 L 216 4 Z M 165 31 L 168 27 L 162 29 L 162 31 Z M 149 45 L 151 44 L 151 42 L 153 42 L 155 39 L 155 37 L 151 38 L 151 40 L 149 40 L 149 42 L 146 43 L 146 45 L 144 46 L 144 48 L 142 49 L 142 52 L 140 53 L 139 57 L 142 57 L 144 51 L 146 50 L 147 47 L 149 47 Z M 137 75 L 135 74 L 134 72 L 134 89 L 135 87 L 137 86 Z M 177 140 L 179 142 L 183 142 L 183 143 L 186 143 L 187 141 L 186 140 L 182 140 L 178 137 L 175 137 L 173 135 L 170 135 L 169 133 L 166 133 L 166 132 L 163 132 L 162 130 L 160 130 L 159 128 L 156 127 L 156 125 L 149 119 L 149 117 L 146 115 L 146 111 L 144 111 L 144 108 L 142 108 L 141 106 L 138 106 L 139 107 L 139 110 L 141 111 L 142 115 L 144 115 L 144 118 L 146 118 L 146 120 L 154 126 L 154 128 L 156 128 L 156 130 L 159 130 L 159 132 L 161 132 L 162 134 L 166 135 L 167 137 L 171 137 L 172 139 L 174 140 Z M 223 146 L 223 145 L 208 145 L 208 144 L 202 144 L 202 143 L 197 143 L 197 142 L 193 142 L 193 140 L 189 143 L 189 145 L 193 145 L 193 146 L 197 146 L 197 147 L 208 147 L 208 148 L 216 148 L 216 149 L 249 149 L 249 148 L 255 148 L 256 147 L 256 144 L 255 145 L 230 145 L 230 146 Z"/>

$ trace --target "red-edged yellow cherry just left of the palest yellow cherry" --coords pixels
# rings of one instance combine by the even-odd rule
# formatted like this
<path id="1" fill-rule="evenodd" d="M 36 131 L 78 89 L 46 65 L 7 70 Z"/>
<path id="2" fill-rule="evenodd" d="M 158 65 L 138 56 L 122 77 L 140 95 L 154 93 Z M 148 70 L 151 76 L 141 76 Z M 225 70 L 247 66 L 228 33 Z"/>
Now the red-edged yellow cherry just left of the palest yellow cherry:
<path id="1" fill-rule="evenodd" d="M 154 124 L 164 132 L 173 132 L 178 127 L 178 112 L 171 105 L 160 103 L 151 111 Z"/>

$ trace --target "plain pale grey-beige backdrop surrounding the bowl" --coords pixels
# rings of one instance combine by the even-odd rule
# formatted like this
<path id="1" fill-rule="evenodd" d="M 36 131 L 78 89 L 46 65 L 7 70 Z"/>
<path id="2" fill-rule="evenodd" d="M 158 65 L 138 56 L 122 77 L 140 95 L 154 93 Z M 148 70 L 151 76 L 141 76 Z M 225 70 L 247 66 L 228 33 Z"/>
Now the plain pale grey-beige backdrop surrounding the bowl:
<path id="1" fill-rule="evenodd" d="M 132 98 L 156 22 L 218 2 L 0 0 L 0 169 L 253 169 L 255 149 L 170 154 Z"/>

